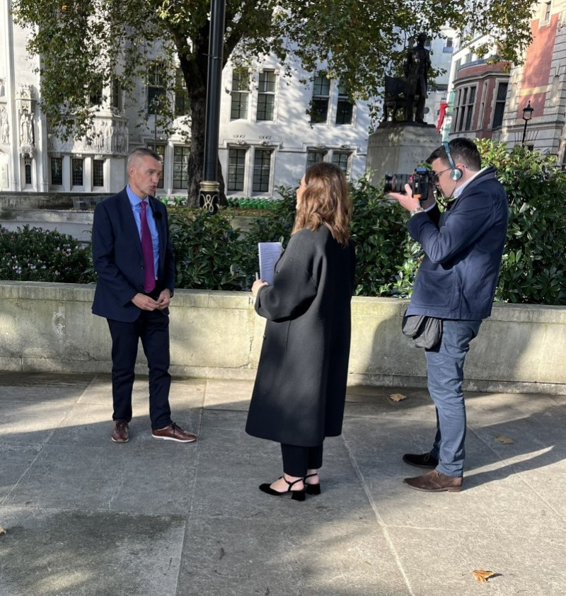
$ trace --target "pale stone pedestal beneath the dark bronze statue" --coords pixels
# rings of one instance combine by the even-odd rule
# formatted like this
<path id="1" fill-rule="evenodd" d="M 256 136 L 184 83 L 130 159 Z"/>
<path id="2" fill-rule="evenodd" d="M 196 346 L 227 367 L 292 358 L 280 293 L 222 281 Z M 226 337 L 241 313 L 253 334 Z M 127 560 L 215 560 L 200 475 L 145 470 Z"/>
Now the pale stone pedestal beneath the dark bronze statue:
<path id="1" fill-rule="evenodd" d="M 441 134 L 434 125 L 382 122 L 370 134 L 367 144 L 366 171 L 370 172 L 370 183 L 381 185 L 386 173 L 412 173 L 441 144 Z"/>

